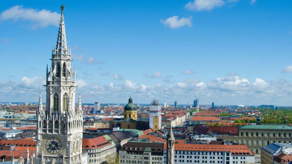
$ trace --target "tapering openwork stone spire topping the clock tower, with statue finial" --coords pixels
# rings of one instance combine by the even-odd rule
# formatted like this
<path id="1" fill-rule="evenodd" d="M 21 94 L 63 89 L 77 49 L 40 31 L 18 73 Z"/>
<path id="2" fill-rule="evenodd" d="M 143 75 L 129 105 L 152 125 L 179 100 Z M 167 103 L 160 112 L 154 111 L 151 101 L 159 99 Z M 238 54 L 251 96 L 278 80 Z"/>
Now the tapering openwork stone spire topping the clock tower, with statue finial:
<path id="1" fill-rule="evenodd" d="M 55 54 L 69 55 L 69 50 L 68 50 L 67 41 L 66 41 L 66 32 L 65 32 L 64 8 L 65 8 L 65 6 L 62 4 L 62 6 L 61 6 L 61 20 L 60 20 L 57 45 L 55 48 Z"/>

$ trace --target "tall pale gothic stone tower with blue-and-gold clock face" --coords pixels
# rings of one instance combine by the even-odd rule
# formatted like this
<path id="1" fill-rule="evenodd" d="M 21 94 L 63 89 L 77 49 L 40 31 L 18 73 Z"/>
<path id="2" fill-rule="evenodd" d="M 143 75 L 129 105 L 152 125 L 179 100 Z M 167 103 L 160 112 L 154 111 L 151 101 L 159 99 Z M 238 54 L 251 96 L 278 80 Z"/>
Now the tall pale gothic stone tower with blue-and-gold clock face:
<path id="1" fill-rule="evenodd" d="M 82 159 L 83 111 L 79 94 L 75 108 L 75 67 L 71 69 L 64 24 L 64 8 L 57 45 L 52 50 L 52 64 L 46 71 L 46 110 L 42 108 L 41 93 L 36 111 L 37 156 L 40 164 L 79 164 Z"/>

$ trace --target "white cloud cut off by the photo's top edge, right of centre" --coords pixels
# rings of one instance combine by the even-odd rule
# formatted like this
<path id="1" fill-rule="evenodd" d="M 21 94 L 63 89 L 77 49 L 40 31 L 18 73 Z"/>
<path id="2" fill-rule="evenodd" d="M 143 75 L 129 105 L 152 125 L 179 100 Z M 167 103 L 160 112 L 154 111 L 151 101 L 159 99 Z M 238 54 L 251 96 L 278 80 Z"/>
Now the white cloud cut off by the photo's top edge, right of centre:
<path id="1" fill-rule="evenodd" d="M 223 0 L 194 0 L 187 3 L 185 8 L 195 11 L 212 10 L 215 7 L 223 6 L 224 3 Z"/>

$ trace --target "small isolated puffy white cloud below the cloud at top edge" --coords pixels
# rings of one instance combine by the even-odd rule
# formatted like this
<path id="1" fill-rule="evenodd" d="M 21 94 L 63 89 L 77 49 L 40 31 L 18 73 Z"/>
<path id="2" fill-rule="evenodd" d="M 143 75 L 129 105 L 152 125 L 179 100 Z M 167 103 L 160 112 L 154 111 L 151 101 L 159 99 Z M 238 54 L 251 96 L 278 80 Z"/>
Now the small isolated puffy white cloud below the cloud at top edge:
<path id="1" fill-rule="evenodd" d="M 189 16 L 189 18 L 178 18 L 178 16 L 169 17 L 166 20 L 160 20 L 161 23 L 163 23 L 166 27 L 169 27 L 171 29 L 180 28 L 183 26 L 192 27 L 192 16 Z"/>

